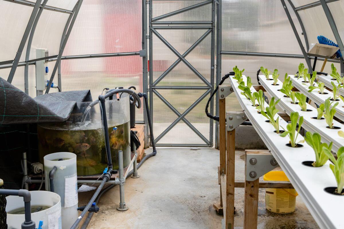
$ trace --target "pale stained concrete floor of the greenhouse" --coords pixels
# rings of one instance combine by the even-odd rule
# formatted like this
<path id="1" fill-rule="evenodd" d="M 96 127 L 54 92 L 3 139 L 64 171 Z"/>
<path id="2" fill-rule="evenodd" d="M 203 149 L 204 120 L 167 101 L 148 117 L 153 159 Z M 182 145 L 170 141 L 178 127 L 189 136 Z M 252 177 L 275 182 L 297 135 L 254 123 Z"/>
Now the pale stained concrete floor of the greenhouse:
<path id="1" fill-rule="evenodd" d="M 149 149 L 146 152 L 150 152 Z M 236 180 L 244 181 L 244 152 L 236 151 Z M 126 181 L 126 204 L 120 212 L 118 186 L 100 199 L 100 211 L 92 229 L 221 228 L 222 216 L 213 204 L 219 202 L 217 166 L 219 151 L 201 148 L 158 148 L 158 154 L 139 169 L 138 179 Z M 85 203 L 93 192 L 79 193 Z M 243 228 L 244 189 L 235 190 L 235 229 Z M 259 229 L 316 229 L 313 217 L 297 198 L 294 213 L 281 215 L 265 209 L 265 190 L 259 190 Z"/>

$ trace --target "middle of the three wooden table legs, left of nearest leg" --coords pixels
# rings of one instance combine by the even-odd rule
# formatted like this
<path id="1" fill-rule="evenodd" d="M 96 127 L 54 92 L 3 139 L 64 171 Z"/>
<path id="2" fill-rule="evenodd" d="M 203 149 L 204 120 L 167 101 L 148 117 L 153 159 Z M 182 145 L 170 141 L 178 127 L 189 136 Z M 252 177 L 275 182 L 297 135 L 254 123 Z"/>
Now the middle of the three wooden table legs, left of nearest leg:
<path id="1" fill-rule="evenodd" d="M 235 129 L 227 131 L 226 229 L 234 228 Z"/>

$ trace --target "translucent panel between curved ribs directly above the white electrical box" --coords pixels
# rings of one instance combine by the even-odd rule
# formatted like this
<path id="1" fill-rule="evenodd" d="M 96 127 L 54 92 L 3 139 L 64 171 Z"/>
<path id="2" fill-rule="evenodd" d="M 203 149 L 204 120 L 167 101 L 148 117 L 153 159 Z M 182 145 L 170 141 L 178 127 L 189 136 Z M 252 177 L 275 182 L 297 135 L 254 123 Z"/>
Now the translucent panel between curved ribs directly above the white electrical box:
<path id="1" fill-rule="evenodd" d="M 57 55 L 60 51 L 60 44 L 64 27 L 67 23 L 69 14 L 44 10 L 37 23 L 33 36 L 30 59 L 36 58 L 36 48 L 47 48 L 49 56 Z M 21 60 L 25 60 L 25 52 Z M 52 69 L 51 69 L 52 70 Z"/>

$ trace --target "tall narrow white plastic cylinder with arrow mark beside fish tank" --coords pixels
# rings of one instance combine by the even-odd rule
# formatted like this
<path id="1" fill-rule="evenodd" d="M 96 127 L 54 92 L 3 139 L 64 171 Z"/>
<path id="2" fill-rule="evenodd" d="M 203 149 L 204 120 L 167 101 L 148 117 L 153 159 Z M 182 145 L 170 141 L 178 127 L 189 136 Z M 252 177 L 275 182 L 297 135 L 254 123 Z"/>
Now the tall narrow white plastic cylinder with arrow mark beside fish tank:
<path id="1" fill-rule="evenodd" d="M 49 172 L 54 166 L 57 168 L 54 173 L 54 192 L 61 197 L 62 228 L 71 228 L 79 216 L 76 154 L 58 152 L 44 156 L 45 190 L 50 191 Z"/>

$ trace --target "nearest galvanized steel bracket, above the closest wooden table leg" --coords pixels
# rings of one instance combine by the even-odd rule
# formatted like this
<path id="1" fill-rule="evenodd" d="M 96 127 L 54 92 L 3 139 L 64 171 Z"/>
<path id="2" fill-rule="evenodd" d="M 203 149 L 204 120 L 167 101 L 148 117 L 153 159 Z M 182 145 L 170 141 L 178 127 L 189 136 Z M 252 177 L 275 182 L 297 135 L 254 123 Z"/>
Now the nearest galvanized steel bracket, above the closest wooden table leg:
<path id="1" fill-rule="evenodd" d="M 278 163 L 268 151 L 246 153 L 246 180 L 254 181 L 278 167 Z"/>

